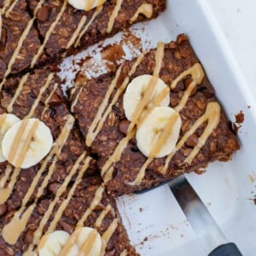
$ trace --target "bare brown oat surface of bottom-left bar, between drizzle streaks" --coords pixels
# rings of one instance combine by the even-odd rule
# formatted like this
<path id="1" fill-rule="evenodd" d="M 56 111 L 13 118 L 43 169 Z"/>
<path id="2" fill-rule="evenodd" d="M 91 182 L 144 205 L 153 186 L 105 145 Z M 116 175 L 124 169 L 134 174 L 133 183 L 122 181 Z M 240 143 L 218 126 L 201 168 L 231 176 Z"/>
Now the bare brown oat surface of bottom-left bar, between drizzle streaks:
<path id="1" fill-rule="evenodd" d="M 96 193 L 100 189 L 102 180 L 99 177 L 90 177 L 84 179 L 76 187 L 71 201 L 69 201 L 65 211 L 61 214 L 61 218 L 58 219 L 57 224 L 53 230 L 65 230 L 67 233 L 72 234 L 78 224 L 79 220 L 83 218 L 86 210 L 91 207 L 92 201 L 96 198 Z M 67 199 L 67 195 L 70 193 L 72 187 L 69 187 L 67 191 L 56 201 L 55 208 L 51 212 L 47 222 L 44 225 L 44 232 L 49 228 L 49 224 L 52 223 L 53 218 L 58 209 L 61 207 L 61 203 Z M 56 192 L 56 191 L 55 191 Z M 29 218 L 25 230 L 20 235 L 19 240 L 15 245 L 7 245 L 3 240 L 3 236 L 0 236 L 0 255 L 22 255 L 26 252 L 29 245 L 32 244 L 33 234 L 38 230 L 39 224 L 42 218 L 47 214 L 50 203 L 54 201 L 54 196 L 46 197 L 38 201 L 37 207 L 32 212 L 31 218 Z M 102 223 L 96 224 L 96 219 L 101 213 L 109 207 L 108 213 L 102 220 Z M 15 212 L 9 212 L 3 218 L 0 218 L 0 232 L 2 233 L 3 227 L 14 218 Z M 113 229 L 113 235 L 107 242 L 104 255 L 106 256 L 119 256 L 123 255 L 137 255 L 134 248 L 129 243 L 128 236 L 125 233 L 125 228 L 119 218 L 119 213 L 115 205 L 115 201 L 112 197 L 109 197 L 106 191 L 102 192 L 102 198 L 99 200 L 96 207 L 91 207 L 88 218 L 84 221 L 84 226 L 96 228 L 96 230 L 103 235 L 108 230 L 113 222 L 117 222 L 117 225 Z M 16 230 L 17 232 L 17 230 Z M 44 236 L 43 232 L 43 236 Z M 112 233 L 112 232 L 111 232 Z M 102 236 L 103 237 L 103 236 Z M 126 252 L 126 254 L 125 254 Z"/>

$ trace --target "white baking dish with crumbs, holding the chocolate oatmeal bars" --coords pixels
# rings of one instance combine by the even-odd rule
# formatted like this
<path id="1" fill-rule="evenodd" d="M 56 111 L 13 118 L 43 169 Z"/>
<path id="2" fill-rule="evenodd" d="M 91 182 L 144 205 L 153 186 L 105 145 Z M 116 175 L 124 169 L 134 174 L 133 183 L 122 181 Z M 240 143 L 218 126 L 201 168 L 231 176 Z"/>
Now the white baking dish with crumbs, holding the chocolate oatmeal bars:
<path id="1" fill-rule="evenodd" d="M 213 218 L 230 241 L 235 241 L 246 256 L 256 250 L 256 111 L 255 101 L 247 89 L 218 22 L 204 0 L 168 0 L 166 12 L 156 20 L 132 29 L 144 46 L 155 47 L 158 40 L 170 42 L 179 33 L 189 35 L 195 53 L 216 89 L 219 101 L 231 120 L 242 110 L 245 122 L 239 131 L 241 150 L 228 163 L 213 163 L 200 177 L 187 177 Z M 118 41 L 119 35 L 113 40 Z M 108 41 L 107 41 L 108 42 Z M 108 44 L 108 43 L 105 43 Z M 246 45 L 245 45 L 246 48 Z M 93 54 L 93 49 L 86 51 Z M 84 57 L 82 53 L 75 57 Z M 73 79 L 69 58 L 61 66 Z M 253 68 L 253 67 L 252 67 Z M 248 108 L 250 106 L 250 108 Z M 254 112 L 254 113 L 253 113 Z M 167 186 L 147 194 L 123 196 L 119 211 L 137 252 L 147 256 L 205 256 L 209 253 L 197 240 Z"/>

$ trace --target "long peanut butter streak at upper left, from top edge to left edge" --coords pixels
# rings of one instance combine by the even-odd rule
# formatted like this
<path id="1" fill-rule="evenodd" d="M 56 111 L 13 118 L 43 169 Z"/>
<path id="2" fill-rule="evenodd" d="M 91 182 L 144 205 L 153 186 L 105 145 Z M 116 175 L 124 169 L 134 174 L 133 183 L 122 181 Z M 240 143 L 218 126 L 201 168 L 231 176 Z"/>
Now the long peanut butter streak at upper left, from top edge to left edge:
<path id="1" fill-rule="evenodd" d="M 38 2 L 38 5 L 37 5 L 36 9 L 34 10 L 34 17 L 32 18 L 32 20 L 28 21 L 25 30 L 22 32 L 22 34 L 20 36 L 17 47 L 15 48 L 14 54 L 11 56 L 11 58 L 9 60 L 9 63 L 8 63 L 7 70 L 5 71 L 5 73 L 3 75 L 3 81 L 0 83 L 0 90 L 2 90 L 3 84 L 6 82 L 7 76 L 9 75 L 9 73 L 11 73 L 11 70 L 12 70 L 12 67 L 15 63 L 15 60 L 16 60 L 17 56 L 20 53 L 20 49 L 22 47 L 22 44 L 24 43 L 24 41 L 26 39 L 26 36 L 28 35 L 28 33 L 30 32 L 30 30 L 32 28 L 33 22 L 35 20 L 35 16 L 38 13 L 38 9 L 40 9 L 42 7 L 43 3 L 44 3 L 44 0 L 40 0 Z"/>

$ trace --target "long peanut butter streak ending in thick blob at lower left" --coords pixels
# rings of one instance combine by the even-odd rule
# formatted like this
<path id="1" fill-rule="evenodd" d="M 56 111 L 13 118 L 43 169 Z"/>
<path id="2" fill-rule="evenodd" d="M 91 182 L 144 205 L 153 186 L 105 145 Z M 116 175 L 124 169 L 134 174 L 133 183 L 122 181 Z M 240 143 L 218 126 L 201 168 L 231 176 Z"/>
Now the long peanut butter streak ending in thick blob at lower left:
<path id="1" fill-rule="evenodd" d="M 64 144 L 67 141 L 67 137 L 69 136 L 69 133 L 70 133 L 71 129 L 73 128 L 73 124 L 74 124 L 73 116 L 68 115 L 67 122 L 61 131 L 61 135 L 57 138 L 57 140 L 54 144 L 54 147 L 51 149 L 49 155 L 45 158 L 42 166 L 40 167 L 40 169 L 37 172 L 36 177 L 33 178 L 32 184 L 31 184 L 30 188 L 28 189 L 28 191 L 26 192 L 25 197 L 22 200 L 20 209 L 17 212 L 15 212 L 15 215 L 10 220 L 9 224 L 6 224 L 3 227 L 3 239 L 7 243 L 15 244 L 16 241 L 19 239 L 21 233 L 25 230 L 27 221 L 30 218 L 33 209 L 36 207 L 38 199 L 44 194 L 44 189 L 46 188 L 46 186 L 49 183 L 49 178 L 52 176 L 53 172 L 55 171 L 55 164 L 59 158 L 59 155 L 61 154 L 61 150 L 64 147 Z M 49 166 L 49 172 L 46 175 L 46 177 L 44 177 L 44 181 L 41 184 L 41 186 L 38 188 L 38 193 L 36 195 L 35 202 L 32 204 L 31 207 L 26 209 L 26 204 L 30 200 L 34 190 L 37 187 L 40 177 L 42 176 L 43 172 L 45 171 L 45 168 L 46 168 L 47 164 L 49 163 L 49 160 L 53 156 L 54 156 L 54 159 L 53 159 L 51 165 Z M 22 212 L 23 212 L 23 214 L 22 214 Z M 15 230 L 15 232 L 13 232 L 13 230 Z"/>

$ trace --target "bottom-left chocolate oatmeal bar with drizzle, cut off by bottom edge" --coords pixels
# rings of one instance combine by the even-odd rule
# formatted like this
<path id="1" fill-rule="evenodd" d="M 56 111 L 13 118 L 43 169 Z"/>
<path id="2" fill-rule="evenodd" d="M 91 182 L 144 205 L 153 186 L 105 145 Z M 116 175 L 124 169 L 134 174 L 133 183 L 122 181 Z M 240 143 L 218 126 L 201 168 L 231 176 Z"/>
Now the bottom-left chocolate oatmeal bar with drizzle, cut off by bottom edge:
<path id="1" fill-rule="evenodd" d="M 65 186 L 58 187 L 54 191 L 55 195 L 38 201 L 23 228 L 19 225 L 21 221 L 18 222 L 18 225 L 16 224 L 15 234 L 9 233 L 9 230 L 11 231 L 15 225 L 17 212 L 9 212 L 4 215 L 0 218 L 2 234 L 0 255 L 31 255 L 30 253 L 43 250 L 42 247 L 46 243 L 50 248 L 50 242 L 53 241 L 55 241 L 55 248 L 52 249 L 55 250 L 56 244 L 59 242 L 58 247 L 61 244 L 60 237 L 54 235 L 56 230 L 63 230 L 67 232 L 65 234 L 73 235 L 73 237 L 76 237 L 75 234 L 77 234 L 79 238 L 82 236 L 80 233 L 78 234 L 80 227 L 96 229 L 102 236 L 101 255 L 137 255 L 125 233 L 115 201 L 108 196 L 101 183 L 101 178 L 90 177 L 85 178 L 82 182 L 76 180 L 67 189 Z M 65 192 L 57 198 L 60 191 Z M 45 240 L 47 236 L 53 235 L 55 236 L 53 241 Z M 8 244 L 6 241 L 13 242 Z M 90 241 L 89 246 L 91 243 L 93 241 Z"/>

